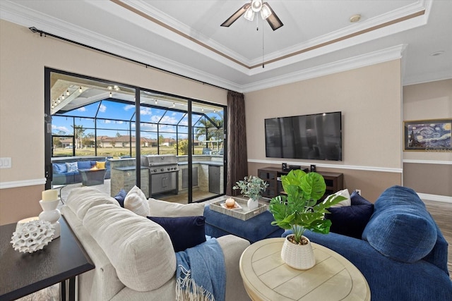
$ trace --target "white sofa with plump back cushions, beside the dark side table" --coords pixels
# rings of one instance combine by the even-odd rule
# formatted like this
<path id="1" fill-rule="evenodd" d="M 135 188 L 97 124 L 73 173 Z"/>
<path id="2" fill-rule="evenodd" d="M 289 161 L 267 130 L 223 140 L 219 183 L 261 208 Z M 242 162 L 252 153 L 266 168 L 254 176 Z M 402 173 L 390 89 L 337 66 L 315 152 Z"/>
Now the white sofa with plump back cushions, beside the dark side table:
<path id="1" fill-rule="evenodd" d="M 176 256 L 160 225 L 87 187 L 73 190 L 61 213 L 95 264 L 78 277 L 79 300 L 176 299 Z M 225 257 L 226 300 L 249 300 L 239 272 L 249 242 L 234 235 L 218 242 Z"/>

